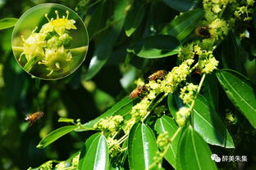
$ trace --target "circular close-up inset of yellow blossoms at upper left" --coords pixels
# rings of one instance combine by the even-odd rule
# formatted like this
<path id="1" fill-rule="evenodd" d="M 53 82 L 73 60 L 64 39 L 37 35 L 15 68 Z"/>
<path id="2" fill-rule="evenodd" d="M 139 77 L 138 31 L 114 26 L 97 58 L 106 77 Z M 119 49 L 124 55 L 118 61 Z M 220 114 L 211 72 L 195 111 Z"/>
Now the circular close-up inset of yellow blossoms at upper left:
<path id="1" fill-rule="evenodd" d="M 83 20 L 70 8 L 44 3 L 17 21 L 11 46 L 25 71 L 42 79 L 64 78 L 85 60 L 89 38 Z"/>

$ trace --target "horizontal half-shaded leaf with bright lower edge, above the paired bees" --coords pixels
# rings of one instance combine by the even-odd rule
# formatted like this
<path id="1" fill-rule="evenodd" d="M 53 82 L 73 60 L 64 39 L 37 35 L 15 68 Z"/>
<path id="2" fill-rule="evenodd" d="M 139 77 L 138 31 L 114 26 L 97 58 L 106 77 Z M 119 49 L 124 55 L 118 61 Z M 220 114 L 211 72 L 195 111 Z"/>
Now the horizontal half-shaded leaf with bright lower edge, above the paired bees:
<path id="1" fill-rule="evenodd" d="M 161 58 L 178 53 L 180 42 L 169 35 L 155 35 L 133 43 L 127 51 L 143 58 Z"/>

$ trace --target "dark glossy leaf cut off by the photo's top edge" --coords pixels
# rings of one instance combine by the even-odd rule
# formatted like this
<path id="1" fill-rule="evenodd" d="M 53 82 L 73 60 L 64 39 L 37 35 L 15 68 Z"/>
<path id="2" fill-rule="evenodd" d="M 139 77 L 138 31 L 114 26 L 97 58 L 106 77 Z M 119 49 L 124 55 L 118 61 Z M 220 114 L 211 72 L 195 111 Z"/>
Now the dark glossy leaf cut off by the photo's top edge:
<path id="1" fill-rule="evenodd" d="M 161 0 L 161 1 L 167 4 L 168 7 L 171 7 L 176 11 L 190 11 L 191 9 L 196 7 L 199 2 L 201 2 L 199 0 Z"/>

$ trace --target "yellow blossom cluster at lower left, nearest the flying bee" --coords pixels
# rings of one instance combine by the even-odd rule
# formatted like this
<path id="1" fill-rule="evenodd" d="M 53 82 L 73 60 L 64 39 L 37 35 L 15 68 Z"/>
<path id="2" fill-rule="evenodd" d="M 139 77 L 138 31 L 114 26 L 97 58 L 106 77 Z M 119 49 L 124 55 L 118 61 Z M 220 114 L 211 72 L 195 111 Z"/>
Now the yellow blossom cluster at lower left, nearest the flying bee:
<path id="1" fill-rule="evenodd" d="M 106 119 L 100 119 L 97 123 L 94 124 L 94 128 L 101 131 L 108 131 L 114 134 L 120 128 L 120 125 L 123 123 L 123 121 L 124 119 L 121 115 L 115 115 Z"/>

